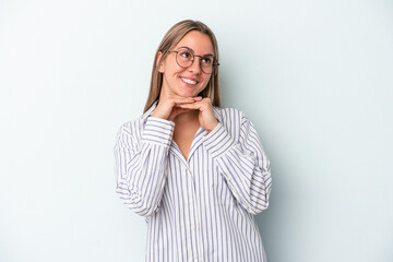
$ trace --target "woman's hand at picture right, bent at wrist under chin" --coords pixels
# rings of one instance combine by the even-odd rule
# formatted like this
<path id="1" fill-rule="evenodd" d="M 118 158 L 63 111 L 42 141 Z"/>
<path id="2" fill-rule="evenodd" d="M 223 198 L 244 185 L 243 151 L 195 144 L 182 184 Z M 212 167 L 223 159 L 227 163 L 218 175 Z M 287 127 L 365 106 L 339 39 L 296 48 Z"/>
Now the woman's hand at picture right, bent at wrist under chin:
<path id="1" fill-rule="evenodd" d="M 207 132 L 211 132 L 218 124 L 213 111 L 212 99 L 209 97 L 194 103 L 179 104 L 178 107 L 188 110 L 199 110 L 199 122 Z"/>

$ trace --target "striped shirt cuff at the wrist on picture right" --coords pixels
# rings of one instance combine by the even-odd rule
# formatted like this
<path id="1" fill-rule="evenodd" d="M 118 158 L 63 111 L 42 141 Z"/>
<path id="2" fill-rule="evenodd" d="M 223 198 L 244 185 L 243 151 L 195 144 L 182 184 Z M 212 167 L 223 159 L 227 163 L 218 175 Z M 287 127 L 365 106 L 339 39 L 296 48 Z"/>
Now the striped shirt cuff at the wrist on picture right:
<path id="1" fill-rule="evenodd" d="M 212 155 L 217 157 L 227 152 L 235 141 L 230 138 L 229 133 L 224 129 L 223 124 L 218 124 L 204 136 L 203 145 L 205 150 Z"/>

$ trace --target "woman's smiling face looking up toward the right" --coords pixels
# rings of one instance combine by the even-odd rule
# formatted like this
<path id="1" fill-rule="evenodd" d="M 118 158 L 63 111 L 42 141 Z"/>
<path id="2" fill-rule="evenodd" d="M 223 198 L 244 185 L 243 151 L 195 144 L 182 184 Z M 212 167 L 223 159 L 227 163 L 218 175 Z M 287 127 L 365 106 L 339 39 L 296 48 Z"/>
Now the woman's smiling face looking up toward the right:
<path id="1" fill-rule="evenodd" d="M 214 55 L 210 37 L 198 31 L 189 32 L 169 51 L 182 48 L 192 50 L 196 56 Z M 190 67 L 181 68 L 176 62 L 176 52 L 168 52 L 167 57 L 158 66 L 158 71 L 164 74 L 162 93 L 181 97 L 194 97 L 206 87 L 211 74 L 202 72 L 201 57 L 194 57 L 194 61 Z"/>

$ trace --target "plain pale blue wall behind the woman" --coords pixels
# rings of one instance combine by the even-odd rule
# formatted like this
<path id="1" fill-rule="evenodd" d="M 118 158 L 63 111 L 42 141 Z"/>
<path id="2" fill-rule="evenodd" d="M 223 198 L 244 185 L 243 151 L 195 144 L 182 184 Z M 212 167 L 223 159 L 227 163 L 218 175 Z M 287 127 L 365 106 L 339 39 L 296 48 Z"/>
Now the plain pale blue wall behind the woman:
<path id="1" fill-rule="evenodd" d="M 183 19 L 216 33 L 224 105 L 271 158 L 270 262 L 393 261 L 389 0 L 0 0 L 0 261 L 143 261 L 112 146 Z"/>

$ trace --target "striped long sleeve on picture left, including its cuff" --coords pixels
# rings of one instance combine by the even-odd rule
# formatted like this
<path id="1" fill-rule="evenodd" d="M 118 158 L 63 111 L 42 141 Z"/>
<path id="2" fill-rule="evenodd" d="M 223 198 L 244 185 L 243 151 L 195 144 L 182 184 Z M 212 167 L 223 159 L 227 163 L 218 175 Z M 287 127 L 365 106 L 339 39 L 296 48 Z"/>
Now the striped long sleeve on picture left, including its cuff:
<path id="1" fill-rule="evenodd" d="M 118 132 L 116 191 L 139 215 L 150 216 L 159 207 L 174 127 L 174 122 L 150 117 L 144 126 L 129 122 Z"/>

